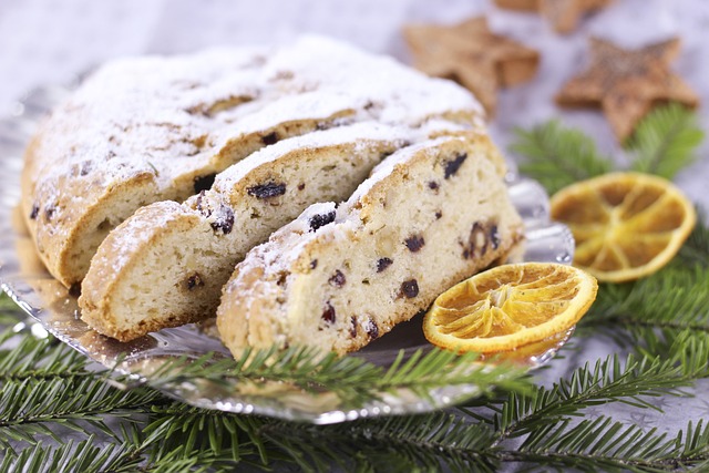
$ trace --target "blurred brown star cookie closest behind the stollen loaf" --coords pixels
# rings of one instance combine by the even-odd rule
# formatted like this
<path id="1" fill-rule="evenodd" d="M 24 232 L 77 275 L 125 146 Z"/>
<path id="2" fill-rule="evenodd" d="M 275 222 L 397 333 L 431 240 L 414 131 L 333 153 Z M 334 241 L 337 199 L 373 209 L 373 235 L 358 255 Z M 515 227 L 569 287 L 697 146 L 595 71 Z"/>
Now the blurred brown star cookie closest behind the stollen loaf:
<path id="1" fill-rule="evenodd" d="M 417 69 L 459 82 L 491 115 L 497 89 L 530 80 L 540 62 L 535 50 L 492 33 L 482 17 L 454 25 L 407 25 L 403 35 Z"/>

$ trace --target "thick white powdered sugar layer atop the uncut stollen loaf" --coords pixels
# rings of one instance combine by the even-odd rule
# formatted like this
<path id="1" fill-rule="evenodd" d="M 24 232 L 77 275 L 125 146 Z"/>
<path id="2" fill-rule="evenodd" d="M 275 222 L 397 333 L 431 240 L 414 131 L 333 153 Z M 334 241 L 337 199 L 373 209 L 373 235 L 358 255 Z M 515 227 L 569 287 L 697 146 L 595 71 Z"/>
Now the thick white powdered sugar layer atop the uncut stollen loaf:
<path id="1" fill-rule="evenodd" d="M 166 186 L 229 138 L 348 109 L 361 115 L 358 120 L 383 123 L 419 124 L 464 110 L 482 115 L 475 99 L 451 82 L 329 39 L 304 37 L 276 51 L 220 49 L 109 63 L 54 113 L 41 144 L 50 156 L 72 164 L 117 155 L 125 167 L 144 171 L 150 162 Z M 53 175 L 66 172 L 54 161 L 44 160 L 40 174 L 44 167 Z"/>

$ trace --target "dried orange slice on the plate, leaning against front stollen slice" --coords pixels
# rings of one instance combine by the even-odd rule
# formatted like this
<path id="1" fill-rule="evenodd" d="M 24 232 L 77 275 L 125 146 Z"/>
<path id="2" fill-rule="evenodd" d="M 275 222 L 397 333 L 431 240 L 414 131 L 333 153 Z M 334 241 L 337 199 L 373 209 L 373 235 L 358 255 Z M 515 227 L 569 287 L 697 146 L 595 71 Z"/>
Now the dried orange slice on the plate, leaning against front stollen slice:
<path id="1" fill-rule="evenodd" d="M 593 276 L 572 266 L 497 266 L 439 296 L 423 318 L 423 333 L 431 343 L 455 351 L 517 350 L 566 333 L 597 290 Z"/>

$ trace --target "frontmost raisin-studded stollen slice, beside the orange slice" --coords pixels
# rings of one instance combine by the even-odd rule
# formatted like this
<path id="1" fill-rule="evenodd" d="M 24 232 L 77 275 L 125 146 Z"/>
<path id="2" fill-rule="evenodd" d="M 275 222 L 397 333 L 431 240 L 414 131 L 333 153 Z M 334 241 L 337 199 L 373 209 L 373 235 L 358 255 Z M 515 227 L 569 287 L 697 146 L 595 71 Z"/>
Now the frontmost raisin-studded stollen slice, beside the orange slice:
<path id="1" fill-rule="evenodd" d="M 345 353 L 409 320 L 522 238 L 504 173 L 480 134 L 398 151 L 347 203 L 309 207 L 247 254 L 217 310 L 223 342 L 237 357 L 274 343 Z"/>

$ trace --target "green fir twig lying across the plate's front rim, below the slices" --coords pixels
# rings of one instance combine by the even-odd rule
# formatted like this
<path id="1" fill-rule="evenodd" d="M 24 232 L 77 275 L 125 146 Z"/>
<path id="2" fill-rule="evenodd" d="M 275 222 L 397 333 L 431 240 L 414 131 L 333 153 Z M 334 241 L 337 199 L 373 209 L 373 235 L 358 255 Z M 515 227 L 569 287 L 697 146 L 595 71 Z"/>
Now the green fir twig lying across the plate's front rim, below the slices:
<path id="1" fill-rule="evenodd" d="M 197 360 L 171 360 L 148 382 L 166 388 L 198 379 L 238 393 L 245 382 L 277 381 L 311 393 L 333 392 L 343 409 L 377 401 L 382 393 L 397 390 L 411 390 L 427 398 L 434 389 L 449 385 L 473 384 L 479 392 L 471 395 L 495 388 L 516 392 L 531 389 L 523 368 L 476 363 L 475 353 L 458 356 L 434 349 L 425 354 L 418 351 L 407 361 L 403 354 L 400 352 L 392 367 L 384 370 L 360 358 L 340 358 L 301 347 L 246 350 L 238 360 L 207 353 Z"/>

